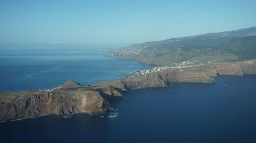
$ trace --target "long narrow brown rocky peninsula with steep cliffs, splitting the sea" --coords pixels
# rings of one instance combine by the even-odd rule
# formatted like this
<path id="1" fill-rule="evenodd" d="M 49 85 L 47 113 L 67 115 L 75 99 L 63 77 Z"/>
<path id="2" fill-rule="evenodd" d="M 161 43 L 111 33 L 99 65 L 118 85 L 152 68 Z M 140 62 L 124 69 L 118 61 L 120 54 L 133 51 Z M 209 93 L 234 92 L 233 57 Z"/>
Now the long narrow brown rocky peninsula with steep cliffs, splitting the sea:
<path id="1" fill-rule="evenodd" d="M 45 114 L 67 115 L 88 113 L 99 115 L 110 108 L 111 98 L 122 97 L 130 90 L 166 87 L 170 83 L 215 82 L 218 75 L 256 74 L 256 60 L 234 63 L 198 65 L 180 69 L 165 69 L 147 75 L 81 85 L 68 80 L 53 90 L 31 90 L 0 93 L 0 121 Z"/>

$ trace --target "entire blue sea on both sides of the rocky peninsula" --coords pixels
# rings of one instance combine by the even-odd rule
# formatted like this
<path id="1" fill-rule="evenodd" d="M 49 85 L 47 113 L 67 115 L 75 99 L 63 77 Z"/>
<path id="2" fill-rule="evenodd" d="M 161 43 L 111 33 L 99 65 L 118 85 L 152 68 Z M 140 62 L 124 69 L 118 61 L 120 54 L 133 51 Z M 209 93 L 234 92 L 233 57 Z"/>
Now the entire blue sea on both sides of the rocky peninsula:
<path id="1" fill-rule="evenodd" d="M 1 90 L 43 89 L 69 78 L 88 84 L 125 77 L 123 69 L 152 67 L 100 51 L 2 50 Z M 256 142 L 255 87 L 256 76 L 246 75 L 131 91 L 110 102 L 118 117 L 49 115 L 0 123 L 0 142 Z"/>

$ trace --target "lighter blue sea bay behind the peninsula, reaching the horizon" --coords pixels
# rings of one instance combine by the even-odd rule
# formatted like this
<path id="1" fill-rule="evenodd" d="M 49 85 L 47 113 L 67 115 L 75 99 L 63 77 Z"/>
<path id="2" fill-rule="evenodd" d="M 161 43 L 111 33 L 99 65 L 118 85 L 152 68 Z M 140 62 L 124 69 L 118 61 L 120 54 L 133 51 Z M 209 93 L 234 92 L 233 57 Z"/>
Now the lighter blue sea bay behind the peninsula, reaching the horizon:
<path id="1" fill-rule="evenodd" d="M 50 89 L 72 79 L 87 85 L 131 76 L 153 65 L 105 57 L 108 45 L 0 45 L 0 92 Z"/>

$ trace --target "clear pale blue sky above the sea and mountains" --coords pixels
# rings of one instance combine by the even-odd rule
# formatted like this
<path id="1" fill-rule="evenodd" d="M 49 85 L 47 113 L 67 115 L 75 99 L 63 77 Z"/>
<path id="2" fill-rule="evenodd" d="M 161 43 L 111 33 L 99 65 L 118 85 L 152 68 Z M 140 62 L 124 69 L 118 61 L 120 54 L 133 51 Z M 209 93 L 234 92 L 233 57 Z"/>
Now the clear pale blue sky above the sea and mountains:
<path id="1" fill-rule="evenodd" d="M 256 26 L 256 1 L 0 1 L 0 43 L 133 44 Z"/>

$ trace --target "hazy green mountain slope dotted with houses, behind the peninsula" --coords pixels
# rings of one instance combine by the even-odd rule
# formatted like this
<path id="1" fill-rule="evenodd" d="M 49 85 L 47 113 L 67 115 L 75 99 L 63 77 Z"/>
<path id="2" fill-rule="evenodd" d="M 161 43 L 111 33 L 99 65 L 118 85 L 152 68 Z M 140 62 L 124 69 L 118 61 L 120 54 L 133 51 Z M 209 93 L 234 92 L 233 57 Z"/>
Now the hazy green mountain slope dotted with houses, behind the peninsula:
<path id="1" fill-rule="evenodd" d="M 116 59 L 155 65 L 237 62 L 256 58 L 256 27 L 144 42 L 104 51 Z"/>

